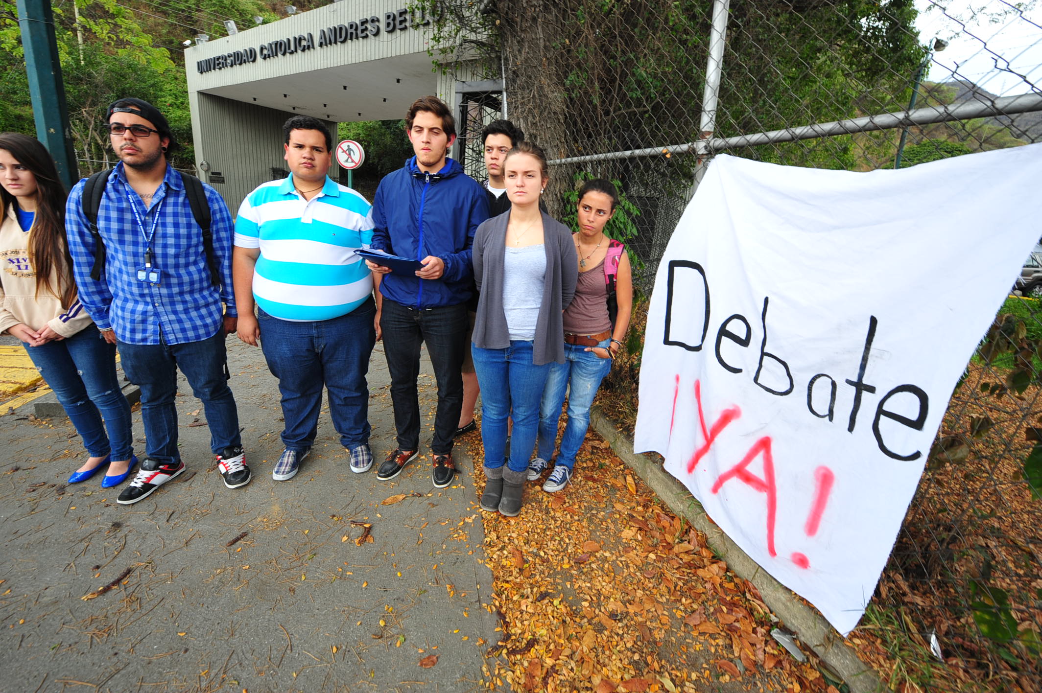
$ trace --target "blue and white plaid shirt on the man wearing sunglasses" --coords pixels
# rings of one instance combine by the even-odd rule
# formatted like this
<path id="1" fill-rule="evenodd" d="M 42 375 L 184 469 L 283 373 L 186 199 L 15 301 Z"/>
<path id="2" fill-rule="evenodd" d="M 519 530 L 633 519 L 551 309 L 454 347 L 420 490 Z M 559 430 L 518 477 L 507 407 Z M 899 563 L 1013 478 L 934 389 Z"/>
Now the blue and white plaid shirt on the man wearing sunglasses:
<path id="1" fill-rule="evenodd" d="M 184 182 L 170 165 L 147 211 L 127 184 L 122 163 L 108 176 L 98 209 L 98 232 L 107 259 L 101 280 L 92 279 L 95 240 L 83 215 L 83 184 L 80 180 L 69 195 L 66 231 L 79 300 L 99 328 L 111 327 L 116 338 L 127 344 L 159 344 L 160 336 L 166 344 L 184 344 L 217 333 L 222 301 L 227 315 L 237 315 L 231 283 L 231 215 L 216 190 L 203 185 L 213 217 L 210 232 L 221 270 L 220 289 L 210 282 L 202 229 L 192 216 Z M 152 267 L 160 278 L 154 284 L 138 279 L 138 270 L 145 265 L 146 244 L 130 204 L 138 208 L 146 231 L 159 215 L 152 239 Z"/>

